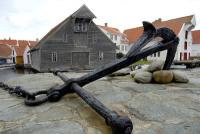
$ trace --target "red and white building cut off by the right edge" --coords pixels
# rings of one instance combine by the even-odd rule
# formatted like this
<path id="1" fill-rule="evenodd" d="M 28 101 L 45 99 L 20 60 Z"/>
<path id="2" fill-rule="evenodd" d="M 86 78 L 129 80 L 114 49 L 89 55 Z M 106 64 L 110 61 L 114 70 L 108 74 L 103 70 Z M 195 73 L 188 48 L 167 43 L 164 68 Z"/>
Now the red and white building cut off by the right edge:
<path id="1" fill-rule="evenodd" d="M 192 59 L 200 59 L 200 30 L 192 31 Z"/>

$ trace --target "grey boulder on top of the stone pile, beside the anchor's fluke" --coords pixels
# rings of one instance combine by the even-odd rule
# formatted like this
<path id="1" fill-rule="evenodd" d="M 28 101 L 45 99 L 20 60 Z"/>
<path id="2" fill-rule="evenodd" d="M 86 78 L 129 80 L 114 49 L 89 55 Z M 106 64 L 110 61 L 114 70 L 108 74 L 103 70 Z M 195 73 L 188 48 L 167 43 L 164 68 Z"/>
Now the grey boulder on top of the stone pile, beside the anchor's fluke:
<path id="1" fill-rule="evenodd" d="M 148 72 L 154 72 L 154 71 L 158 71 L 161 70 L 163 67 L 164 61 L 161 60 L 157 60 L 157 61 L 153 61 L 147 68 Z"/>

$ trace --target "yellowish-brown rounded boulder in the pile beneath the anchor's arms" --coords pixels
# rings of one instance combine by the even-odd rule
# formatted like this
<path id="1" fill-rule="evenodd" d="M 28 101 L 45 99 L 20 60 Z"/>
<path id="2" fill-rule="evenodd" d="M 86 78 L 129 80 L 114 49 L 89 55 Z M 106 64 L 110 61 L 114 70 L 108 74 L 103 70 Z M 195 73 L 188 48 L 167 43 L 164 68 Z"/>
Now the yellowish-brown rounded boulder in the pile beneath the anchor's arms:
<path id="1" fill-rule="evenodd" d="M 155 82 L 161 84 L 170 83 L 173 80 L 173 73 L 168 70 L 155 71 L 153 73 L 153 79 Z"/>

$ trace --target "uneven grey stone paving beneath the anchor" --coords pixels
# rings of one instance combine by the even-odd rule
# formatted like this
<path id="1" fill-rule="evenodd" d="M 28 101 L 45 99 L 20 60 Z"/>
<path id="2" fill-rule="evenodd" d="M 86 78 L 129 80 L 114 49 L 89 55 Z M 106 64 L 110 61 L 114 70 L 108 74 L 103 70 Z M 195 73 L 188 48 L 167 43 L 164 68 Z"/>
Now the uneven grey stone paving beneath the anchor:
<path id="1" fill-rule="evenodd" d="M 188 84 L 137 84 L 130 76 L 104 77 L 84 88 L 120 115 L 128 115 L 134 134 L 200 134 L 200 69 L 185 71 Z M 83 73 L 66 73 L 79 77 Z M 29 91 L 63 82 L 49 73 L 9 80 Z M 1 134 L 111 134 L 102 117 L 78 95 L 27 107 L 23 99 L 0 90 Z"/>

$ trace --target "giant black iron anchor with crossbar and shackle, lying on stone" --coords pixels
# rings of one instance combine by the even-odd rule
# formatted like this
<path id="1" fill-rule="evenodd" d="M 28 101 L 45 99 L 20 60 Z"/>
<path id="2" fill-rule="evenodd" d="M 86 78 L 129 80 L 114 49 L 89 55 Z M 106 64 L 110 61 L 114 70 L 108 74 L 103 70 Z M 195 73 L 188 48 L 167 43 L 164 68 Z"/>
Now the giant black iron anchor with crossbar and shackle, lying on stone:
<path id="1" fill-rule="evenodd" d="M 143 27 L 144 32 L 142 36 L 136 41 L 136 43 L 122 59 L 97 68 L 93 72 L 80 78 L 69 79 L 61 72 L 53 71 L 54 74 L 59 76 L 65 83 L 63 85 L 52 87 L 49 90 L 28 94 L 28 96 L 26 96 L 25 104 L 35 106 L 46 101 L 55 102 L 60 100 L 62 96 L 75 92 L 105 119 L 106 123 L 111 126 L 113 134 L 130 134 L 132 132 L 133 125 L 127 116 L 120 116 L 116 112 L 109 110 L 82 87 L 99 78 L 127 67 L 153 53 L 163 50 L 167 50 L 167 56 L 163 69 L 169 69 L 175 57 L 177 45 L 179 43 L 178 37 L 176 37 L 174 32 L 170 29 L 159 28 L 156 30 L 155 27 L 148 22 L 143 22 Z M 161 37 L 162 41 L 145 48 L 145 46 L 155 37 Z M 41 94 L 45 94 L 46 97 L 39 97 Z"/>

